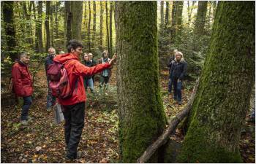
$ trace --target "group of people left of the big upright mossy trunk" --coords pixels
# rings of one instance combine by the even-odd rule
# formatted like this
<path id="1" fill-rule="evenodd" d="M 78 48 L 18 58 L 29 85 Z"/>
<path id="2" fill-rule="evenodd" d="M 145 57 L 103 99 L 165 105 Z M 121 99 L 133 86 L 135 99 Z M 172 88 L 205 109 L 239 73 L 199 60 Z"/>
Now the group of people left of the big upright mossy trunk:
<path id="1" fill-rule="evenodd" d="M 108 51 L 103 52 L 102 62 L 92 66 L 85 66 L 80 63 L 80 55 L 82 55 L 83 45 L 77 40 L 70 40 L 67 45 L 67 53 L 60 52 L 60 55 L 56 55 L 56 51 L 53 47 L 50 47 L 48 57 L 45 58 L 45 71 L 53 62 L 62 63 L 64 69 L 67 70 L 67 77 L 69 84 L 76 84 L 76 91 L 72 92 L 72 95 L 67 99 L 58 98 L 58 103 L 62 106 L 62 112 L 64 114 L 64 136 L 66 143 L 66 158 L 73 160 L 81 156 L 81 153 L 77 152 L 80 136 L 84 126 L 84 114 L 85 114 L 85 102 L 86 102 L 86 90 L 84 87 L 84 78 L 90 79 L 99 72 L 102 72 L 104 82 L 108 83 L 109 72 L 108 69 L 113 65 L 116 55 L 113 55 L 112 59 L 108 58 Z M 92 54 L 88 54 L 92 55 Z M 85 56 L 84 56 L 85 57 Z M 107 58 L 107 60 L 105 60 Z M 84 58 L 85 59 L 85 58 Z M 23 125 L 27 125 L 29 121 L 29 107 L 32 104 L 31 95 L 33 93 L 31 74 L 29 73 L 30 55 L 23 52 L 20 55 L 20 60 L 15 61 L 12 66 L 12 83 L 15 95 L 23 98 L 23 107 L 20 117 L 20 122 Z M 86 60 L 86 59 L 85 59 Z M 86 60 L 91 62 L 92 60 Z M 86 62 L 85 61 L 85 62 Z M 107 71 L 105 71 L 107 70 Z M 48 98 L 47 109 L 50 106 L 56 104 L 56 98 L 51 94 L 48 79 Z M 102 84 L 102 83 L 101 83 Z M 72 86 L 71 86 L 72 87 Z"/>

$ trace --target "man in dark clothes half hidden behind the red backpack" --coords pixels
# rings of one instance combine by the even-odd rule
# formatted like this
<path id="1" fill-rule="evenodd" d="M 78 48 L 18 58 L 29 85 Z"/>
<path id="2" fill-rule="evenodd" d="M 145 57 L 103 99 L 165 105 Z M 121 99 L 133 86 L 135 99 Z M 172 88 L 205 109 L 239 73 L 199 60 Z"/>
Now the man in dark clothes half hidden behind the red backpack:
<path id="1" fill-rule="evenodd" d="M 54 106 L 56 103 L 56 98 L 52 95 L 52 91 L 50 90 L 49 86 L 49 78 L 47 74 L 48 66 L 53 64 L 53 58 L 55 57 L 55 49 L 53 47 L 50 47 L 48 49 L 48 56 L 45 58 L 45 72 L 47 77 L 47 83 L 48 83 L 48 95 L 46 100 L 46 109 L 50 111 L 50 109 Z"/>

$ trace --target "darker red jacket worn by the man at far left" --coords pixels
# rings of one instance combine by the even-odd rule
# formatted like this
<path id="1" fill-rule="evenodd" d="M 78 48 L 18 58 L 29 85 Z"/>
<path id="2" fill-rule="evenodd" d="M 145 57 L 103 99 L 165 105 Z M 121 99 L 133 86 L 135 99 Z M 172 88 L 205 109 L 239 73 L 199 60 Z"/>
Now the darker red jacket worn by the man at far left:
<path id="1" fill-rule="evenodd" d="M 15 62 L 12 66 L 13 89 L 17 96 L 26 97 L 32 95 L 32 80 L 29 68 L 24 63 Z"/>

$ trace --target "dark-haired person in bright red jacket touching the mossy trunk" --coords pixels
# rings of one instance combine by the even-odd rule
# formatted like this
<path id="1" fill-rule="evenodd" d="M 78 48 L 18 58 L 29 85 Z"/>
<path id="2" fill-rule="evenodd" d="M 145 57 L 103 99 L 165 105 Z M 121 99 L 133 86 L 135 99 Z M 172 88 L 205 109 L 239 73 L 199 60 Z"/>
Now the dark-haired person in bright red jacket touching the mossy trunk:
<path id="1" fill-rule="evenodd" d="M 77 152 L 80 137 L 84 126 L 86 91 L 83 87 L 83 77 L 92 76 L 99 71 L 108 69 L 115 60 L 116 56 L 108 63 L 98 64 L 97 66 L 87 67 L 80 63 L 79 58 L 82 54 L 83 45 L 76 40 L 70 40 L 67 45 L 67 54 L 56 55 L 54 61 L 64 63 L 67 70 L 69 82 L 74 89 L 72 96 L 68 99 L 59 98 L 59 104 L 63 106 L 65 118 L 65 142 L 68 160 L 79 158 L 81 153 Z"/>

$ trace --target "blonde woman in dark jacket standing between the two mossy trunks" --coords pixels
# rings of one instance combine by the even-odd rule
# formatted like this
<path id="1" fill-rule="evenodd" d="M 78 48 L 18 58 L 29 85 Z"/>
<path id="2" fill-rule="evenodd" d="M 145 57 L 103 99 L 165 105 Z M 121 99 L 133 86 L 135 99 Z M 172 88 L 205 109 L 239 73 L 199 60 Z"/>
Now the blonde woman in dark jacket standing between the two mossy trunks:
<path id="1" fill-rule="evenodd" d="M 174 60 L 170 69 L 170 76 L 173 79 L 173 98 L 181 105 L 181 87 L 184 76 L 187 74 L 187 62 L 181 52 L 176 52 Z"/>

